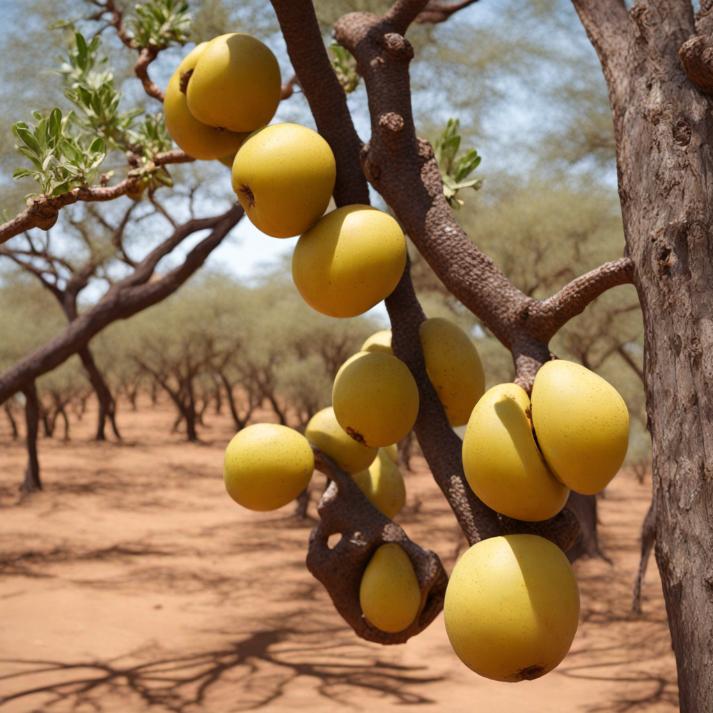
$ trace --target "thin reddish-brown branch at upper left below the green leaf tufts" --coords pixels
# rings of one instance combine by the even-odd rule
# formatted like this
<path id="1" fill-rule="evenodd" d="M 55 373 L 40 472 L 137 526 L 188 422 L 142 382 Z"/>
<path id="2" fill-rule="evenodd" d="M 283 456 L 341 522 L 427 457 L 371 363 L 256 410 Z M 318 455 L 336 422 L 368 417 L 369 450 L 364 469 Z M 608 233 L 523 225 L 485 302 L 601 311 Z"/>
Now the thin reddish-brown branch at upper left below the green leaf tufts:
<path id="1" fill-rule="evenodd" d="M 170 150 L 165 153 L 158 153 L 152 159 L 157 166 L 168 165 L 170 163 L 188 163 L 195 160 L 185 151 Z M 136 188 L 143 178 L 140 175 L 128 176 L 120 183 L 113 186 L 90 188 L 80 186 L 73 188 L 68 193 L 56 195 L 38 195 L 28 200 L 26 209 L 13 220 L 9 220 L 4 225 L 0 225 L 0 244 L 9 240 L 15 235 L 39 227 L 41 230 L 49 230 L 56 222 L 59 211 L 66 205 L 71 205 L 78 201 L 86 202 L 106 202 L 115 200 L 122 195 L 130 193 Z"/>

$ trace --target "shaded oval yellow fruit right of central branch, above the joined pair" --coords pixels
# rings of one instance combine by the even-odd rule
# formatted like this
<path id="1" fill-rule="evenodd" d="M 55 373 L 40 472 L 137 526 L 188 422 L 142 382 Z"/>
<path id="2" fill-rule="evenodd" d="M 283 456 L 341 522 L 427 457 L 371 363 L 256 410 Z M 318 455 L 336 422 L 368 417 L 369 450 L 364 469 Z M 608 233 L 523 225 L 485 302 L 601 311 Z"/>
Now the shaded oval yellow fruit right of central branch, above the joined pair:
<path id="1" fill-rule="evenodd" d="M 476 347 L 450 319 L 433 317 L 419 327 L 426 372 L 451 426 L 463 426 L 486 390 L 486 375 Z"/>

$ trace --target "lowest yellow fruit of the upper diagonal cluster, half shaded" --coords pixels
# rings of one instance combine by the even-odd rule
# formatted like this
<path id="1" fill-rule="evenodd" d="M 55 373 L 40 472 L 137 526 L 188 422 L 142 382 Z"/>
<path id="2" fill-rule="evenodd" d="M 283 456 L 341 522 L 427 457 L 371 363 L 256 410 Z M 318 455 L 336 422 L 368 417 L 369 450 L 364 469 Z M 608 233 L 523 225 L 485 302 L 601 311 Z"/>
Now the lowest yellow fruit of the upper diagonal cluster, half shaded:
<path id="1" fill-rule="evenodd" d="M 299 238 L 292 255 L 299 294 L 328 317 L 364 314 L 394 292 L 404 267 L 406 239 L 399 223 L 369 205 L 327 213 Z"/>

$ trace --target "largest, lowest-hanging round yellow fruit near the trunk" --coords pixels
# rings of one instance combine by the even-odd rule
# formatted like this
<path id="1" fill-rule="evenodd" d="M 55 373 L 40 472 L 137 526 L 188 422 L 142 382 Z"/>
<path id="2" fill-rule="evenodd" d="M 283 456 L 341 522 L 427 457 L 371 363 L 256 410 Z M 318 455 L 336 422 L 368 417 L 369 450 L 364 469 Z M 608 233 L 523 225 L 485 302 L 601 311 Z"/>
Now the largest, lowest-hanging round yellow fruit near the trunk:
<path id="1" fill-rule="evenodd" d="M 505 535 L 466 550 L 443 615 L 458 658 L 495 681 L 539 678 L 567 655 L 579 622 L 575 573 L 538 535 Z"/>

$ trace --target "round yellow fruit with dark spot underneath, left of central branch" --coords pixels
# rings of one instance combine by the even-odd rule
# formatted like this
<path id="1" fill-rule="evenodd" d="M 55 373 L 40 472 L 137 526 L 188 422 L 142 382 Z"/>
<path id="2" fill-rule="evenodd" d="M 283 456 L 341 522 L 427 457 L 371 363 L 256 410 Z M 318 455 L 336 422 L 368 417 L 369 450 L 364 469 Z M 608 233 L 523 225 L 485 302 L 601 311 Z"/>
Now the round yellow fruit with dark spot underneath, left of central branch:
<path id="1" fill-rule="evenodd" d="M 409 367 L 383 352 L 358 352 L 342 364 L 332 387 L 339 425 L 365 446 L 404 438 L 419 415 L 419 388 Z"/>

